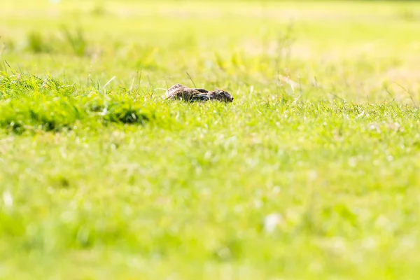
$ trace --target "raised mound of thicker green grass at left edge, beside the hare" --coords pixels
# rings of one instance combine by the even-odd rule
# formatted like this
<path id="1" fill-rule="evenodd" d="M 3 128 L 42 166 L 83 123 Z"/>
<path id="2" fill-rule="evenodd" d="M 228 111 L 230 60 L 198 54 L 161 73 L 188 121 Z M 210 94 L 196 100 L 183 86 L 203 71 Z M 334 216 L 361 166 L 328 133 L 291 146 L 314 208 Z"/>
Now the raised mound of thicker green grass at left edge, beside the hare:
<path id="1" fill-rule="evenodd" d="M 74 85 L 29 73 L 0 73 L 0 126 L 22 133 L 26 130 L 59 132 L 76 121 L 94 119 L 104 125 L 144 125 L 155 118 L 130 96 L 77 92 Z M 3 101 L 1 101 L 3 100 Z"/>

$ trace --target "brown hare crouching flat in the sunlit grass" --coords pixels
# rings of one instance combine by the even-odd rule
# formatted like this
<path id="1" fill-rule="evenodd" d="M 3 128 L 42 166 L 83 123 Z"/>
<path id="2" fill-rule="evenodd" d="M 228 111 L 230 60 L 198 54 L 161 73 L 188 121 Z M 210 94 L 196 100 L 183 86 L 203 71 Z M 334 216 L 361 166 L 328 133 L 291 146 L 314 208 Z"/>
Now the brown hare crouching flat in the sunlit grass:
<path id="1" fill-rule="evenodd" d="M 190 88 L 177 83 L 165 92 L 166 99 L 181 99 L 186 102 L 217 100 L 233 102 L 233 97 L 223 90 L 204 90 L 203 88 Z"/>

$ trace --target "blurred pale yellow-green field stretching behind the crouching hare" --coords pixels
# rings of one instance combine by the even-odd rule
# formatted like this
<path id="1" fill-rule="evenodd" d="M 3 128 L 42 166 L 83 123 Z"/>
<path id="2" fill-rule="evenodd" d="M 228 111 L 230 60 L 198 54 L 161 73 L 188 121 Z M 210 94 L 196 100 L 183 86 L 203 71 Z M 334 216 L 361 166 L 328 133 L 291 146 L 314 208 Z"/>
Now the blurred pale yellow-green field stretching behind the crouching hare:
<path id="1" fill-rule="evenodd" d="M 409 102 L 394 82 L 418 91 L 419 11 L 416 1 L 2 1 L 0 55 L 78 83 L 116 76 L 127 87 L 141 71 L 141 85 L 167 87 L 190 83 L 188 72 L 238 94 L 299 83 L 309 98 L 394 91 Z"/>

